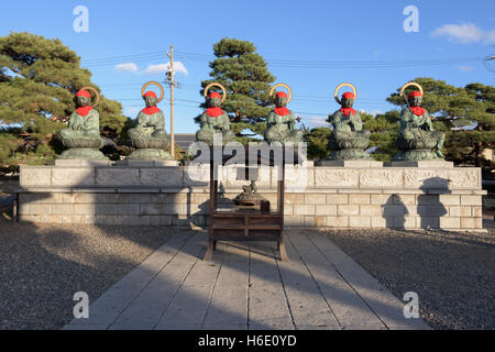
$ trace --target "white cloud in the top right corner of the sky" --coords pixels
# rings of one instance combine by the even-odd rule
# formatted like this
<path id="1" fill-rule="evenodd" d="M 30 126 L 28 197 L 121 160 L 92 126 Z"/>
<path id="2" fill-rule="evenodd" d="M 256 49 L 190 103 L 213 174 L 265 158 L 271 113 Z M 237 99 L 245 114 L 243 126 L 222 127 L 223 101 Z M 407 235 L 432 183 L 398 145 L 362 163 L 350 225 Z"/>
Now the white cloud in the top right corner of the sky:
<path id="1" fill-rule="evenodd" d="M 449 42 L 462 44 L 479 43 L 494 44 L 495 31 L 485 32 L 473 23 L 444 24 L 431 33 L 432 37 L 447 36 Z"/>

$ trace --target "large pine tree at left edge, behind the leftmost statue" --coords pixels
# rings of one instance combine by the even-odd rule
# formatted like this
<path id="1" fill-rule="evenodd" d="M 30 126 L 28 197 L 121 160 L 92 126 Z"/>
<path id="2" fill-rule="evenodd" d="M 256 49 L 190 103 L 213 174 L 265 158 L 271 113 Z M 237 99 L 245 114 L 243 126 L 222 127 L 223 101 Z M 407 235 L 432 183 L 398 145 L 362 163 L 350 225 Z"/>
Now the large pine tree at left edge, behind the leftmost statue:
<path id="1" fill-rule="evenodd" d="M 53 160 L 61 152 L 54 135 L 76 109 L 74 95 L 88 86 L 100 91 L 77 54 L 59 40 L 30 33 L 0 37 L 0 164 Z M 119 102 L 101 96 L 97 109 L 102 131 L 122 132 L 128 119 Z M 14 150 L 6 142 L 12 139 L 19 144 Z"/>

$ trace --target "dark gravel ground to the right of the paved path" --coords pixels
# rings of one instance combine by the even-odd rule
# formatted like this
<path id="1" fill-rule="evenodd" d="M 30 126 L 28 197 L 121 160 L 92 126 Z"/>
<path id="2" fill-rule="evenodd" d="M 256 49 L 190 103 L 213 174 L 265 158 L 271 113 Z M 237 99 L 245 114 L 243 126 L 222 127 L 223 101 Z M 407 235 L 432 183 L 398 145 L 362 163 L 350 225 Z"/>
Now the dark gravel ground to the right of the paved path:
<path id="1" fill-rule="evenodd" d="M 495 227 L 488 233 L 327 231 L 397 298 L 419 296 L 433 329 L 495 329 Z"/>

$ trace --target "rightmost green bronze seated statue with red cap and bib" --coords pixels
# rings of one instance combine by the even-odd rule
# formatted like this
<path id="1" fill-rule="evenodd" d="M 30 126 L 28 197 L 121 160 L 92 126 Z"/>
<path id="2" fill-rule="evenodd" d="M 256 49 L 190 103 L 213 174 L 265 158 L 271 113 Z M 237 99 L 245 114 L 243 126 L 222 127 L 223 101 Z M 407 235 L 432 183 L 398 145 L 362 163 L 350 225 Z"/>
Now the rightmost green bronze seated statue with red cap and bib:
<path id="1" fill-rule="evenodd" d="M 400 112 L 400 130 L 396 146 L 402 151 L 394 161 L 425 161 L 443 160 L 441 148 L 446 140 L 446 133 L 435 131 L 430 116 L 421 108 L 422 87 L 416 82 L 406 84 L 400 90 L 400 96 L 408 86 L 415 86 L 418 90 L 407 96 L 408 107 Z"/>

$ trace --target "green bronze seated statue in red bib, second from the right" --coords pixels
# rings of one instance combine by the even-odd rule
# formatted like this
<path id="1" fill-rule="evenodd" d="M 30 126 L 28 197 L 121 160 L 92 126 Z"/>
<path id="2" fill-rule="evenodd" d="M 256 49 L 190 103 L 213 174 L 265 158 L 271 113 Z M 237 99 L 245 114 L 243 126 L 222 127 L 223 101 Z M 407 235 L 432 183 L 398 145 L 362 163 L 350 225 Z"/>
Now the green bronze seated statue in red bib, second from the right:
<path id="1" fill-rule="evenodd" d="M 353 92 L 344 92 L 342 99 L 338 97 L 339 89 L 343 86 L 352 88 Z M 370 131 L 363 130 L 361 116 L 352 107 L 355 101 L 356 90 L 351 84 L 342 84 L 337 87 L 334 97 L 341 108 L 333 116 L 329 116 L 328 122 L 333 131 L 330 135 L 329 148 L 332 153 L 329 161 L 369 160 L 365 148 L 370 145 Z"/>

